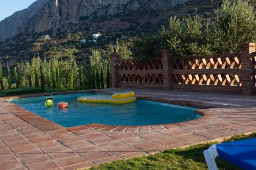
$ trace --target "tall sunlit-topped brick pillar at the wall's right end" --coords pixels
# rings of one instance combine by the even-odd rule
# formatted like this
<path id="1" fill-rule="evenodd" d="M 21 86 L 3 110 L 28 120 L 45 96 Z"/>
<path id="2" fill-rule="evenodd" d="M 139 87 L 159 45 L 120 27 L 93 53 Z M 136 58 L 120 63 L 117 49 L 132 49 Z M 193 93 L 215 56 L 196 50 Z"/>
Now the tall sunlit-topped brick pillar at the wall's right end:
<path id="1" fill-rule="evenodd" d="M 241 56 L 241 79 L 242 79 L 242 95 L 251 95 L 255 88 L 253 82 L 254 76 L 254 56 L 255 56 L 255 43 L 243 43 L 240 46 Z"/>

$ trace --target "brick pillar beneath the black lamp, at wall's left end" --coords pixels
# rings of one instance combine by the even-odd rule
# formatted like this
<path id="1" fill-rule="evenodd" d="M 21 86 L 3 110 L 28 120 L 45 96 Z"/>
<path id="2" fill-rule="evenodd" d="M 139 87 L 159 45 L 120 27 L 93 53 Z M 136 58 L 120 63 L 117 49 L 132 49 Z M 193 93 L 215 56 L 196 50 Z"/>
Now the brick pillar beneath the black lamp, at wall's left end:
<path id="1" fill-rule="evenodd" d="M 119 74 L 118 74 L 118 61 L 120 55 L 119 54 L 111 54 L 110 55 L 110 69 L 111 69 L 111 84 L 112 88 L 119 87 Z"/>

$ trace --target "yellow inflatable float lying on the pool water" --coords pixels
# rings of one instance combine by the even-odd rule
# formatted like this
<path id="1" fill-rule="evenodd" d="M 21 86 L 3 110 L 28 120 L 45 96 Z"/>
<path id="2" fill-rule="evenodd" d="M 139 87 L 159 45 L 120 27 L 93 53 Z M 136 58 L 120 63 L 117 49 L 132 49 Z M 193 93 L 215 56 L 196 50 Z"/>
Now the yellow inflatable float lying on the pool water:
<path id="1" fill-rule="evenodd" d="M 123 93 L 115 93 L 112 96 L 102 96 L 102 95 L 81 96 L 77 100 L 79 102 L 126 104 L 126 103 L 135 102 L 137 98 L 134 96 L 133 91 L 127 91 Z"/>

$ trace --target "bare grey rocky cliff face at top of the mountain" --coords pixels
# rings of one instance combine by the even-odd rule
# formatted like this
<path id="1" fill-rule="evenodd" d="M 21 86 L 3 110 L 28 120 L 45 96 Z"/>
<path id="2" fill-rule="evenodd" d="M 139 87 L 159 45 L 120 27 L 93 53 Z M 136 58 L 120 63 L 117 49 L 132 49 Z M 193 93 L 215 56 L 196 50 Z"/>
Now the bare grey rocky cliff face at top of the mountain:
<path id="1" fill-rule="evenodd" d="M 188 0 L 37 0 L 0 22 L 0 41 L 23 33 L 57 29 L 80 17 L 115 15 L 124 10 L 167 10 Z"/>

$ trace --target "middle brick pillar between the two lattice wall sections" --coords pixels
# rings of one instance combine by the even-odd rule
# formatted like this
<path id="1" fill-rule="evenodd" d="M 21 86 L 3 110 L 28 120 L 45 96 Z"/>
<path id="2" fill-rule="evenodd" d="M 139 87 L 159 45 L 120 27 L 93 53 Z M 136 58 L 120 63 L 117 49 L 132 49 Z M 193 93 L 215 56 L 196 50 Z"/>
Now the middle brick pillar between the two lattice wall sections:
<path id="1" fill-rule="evenodd" d="M 163 89 L 171 90 L 172 87 L 172 65 L 168 56 L 168 50 L 162 50 L 162 63 L 163 63 Z"/>

